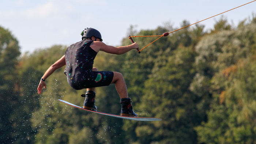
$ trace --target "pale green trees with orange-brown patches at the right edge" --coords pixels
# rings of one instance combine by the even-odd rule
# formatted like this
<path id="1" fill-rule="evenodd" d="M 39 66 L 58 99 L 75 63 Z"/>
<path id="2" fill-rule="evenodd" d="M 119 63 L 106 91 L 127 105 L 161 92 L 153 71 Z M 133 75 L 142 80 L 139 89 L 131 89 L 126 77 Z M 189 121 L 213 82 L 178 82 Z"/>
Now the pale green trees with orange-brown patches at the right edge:
<path id="1" fill-rule="evenodd" d="M 213 96 L 208 121 L 196 128 L 201 142 L 256 142 L 255 32 L 252 23 L 207 36 L 197 45 L 199 76 L 192 89 Z"/>

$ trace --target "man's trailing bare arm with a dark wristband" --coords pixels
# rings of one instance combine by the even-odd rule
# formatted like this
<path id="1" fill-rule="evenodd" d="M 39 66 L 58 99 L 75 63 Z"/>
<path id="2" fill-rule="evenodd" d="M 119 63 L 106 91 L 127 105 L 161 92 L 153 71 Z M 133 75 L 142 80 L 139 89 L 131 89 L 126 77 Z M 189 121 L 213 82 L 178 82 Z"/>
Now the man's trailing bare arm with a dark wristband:
<path id="1" fill-rule="evenodd" d="M 52 73 L 54 71 L 56 71 L 56 69 L 59 69 L 59 68 L 63 67 L 64 65 L 66 65 L 65 55 L 63 57 L 61 57 L 59 60 L 57 60 L 56 62 L 54 62 L 54 64 L 51 65 L 47 69 L 44 76 L 42 76 L 42 79 L 44 79 L 44 80 L 47 79 L 50 75 L 52 75 Z M 40 83 L 37 87 L 38 94 L 41 94 L 43 87 L 46 88 L 46 83 L 45 83 L 45 81 L 40 80 Z"/>

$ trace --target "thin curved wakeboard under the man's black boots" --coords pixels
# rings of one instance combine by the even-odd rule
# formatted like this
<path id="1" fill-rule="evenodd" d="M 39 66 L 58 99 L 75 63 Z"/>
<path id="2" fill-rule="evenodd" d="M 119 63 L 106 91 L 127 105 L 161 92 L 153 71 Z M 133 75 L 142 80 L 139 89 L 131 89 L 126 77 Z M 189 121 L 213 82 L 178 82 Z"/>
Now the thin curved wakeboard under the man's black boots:
<path id="1" fill-rule="evenodd" d="M 108 115 L 110 117 L 116 117 L 116 118 L 123 118 L 123 119 L 127 119 L 127 120 L 134 120 L 134 121 L 161 121 L 162 119 L 160 118 L 153 118 L 153 117 L 125 117 L 125 116 L 121 116 L 121 115 L 115 115 L 115 114 L 108 114 L 108 113 L 102 113 L 102 112 L 99 112 L 99 111 L 93 111 L 93 110 L 87 110 L 87 109 L 83 109 L 82 107 L 80 106 L 76 106 L 72 103 L 69 103 L 69 102 L 66 102 L 66 101 L 63 101 L 61 99 L 58 99 L 59 101 L 63 102 L 63 103 L 66 103 L 70 106 L 73 106 L 73 107 L 76 107 L 76 108 L 79 108 L 79 109 L 82 109 L 82 110 L 86 110 L 86 111 L 90 111 L 90 112 L 93 112 L 93 113 L 98 113 L 98 114 L 103 114 L 103 115 Z"/>

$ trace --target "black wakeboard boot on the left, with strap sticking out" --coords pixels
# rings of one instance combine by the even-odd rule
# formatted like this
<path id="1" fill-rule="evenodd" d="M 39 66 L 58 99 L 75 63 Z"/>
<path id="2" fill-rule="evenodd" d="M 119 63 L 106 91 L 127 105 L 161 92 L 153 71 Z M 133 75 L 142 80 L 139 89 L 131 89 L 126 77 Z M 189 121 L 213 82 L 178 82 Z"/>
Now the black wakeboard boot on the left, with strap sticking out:
<path id="1" fill-rule="evenodd" d="M 83 109 L 97 111 L 97 106 L 95 106 L 96 93 L 94 91 L 86 91 L 85 95 L 81 96 L 85 97 Z"/>

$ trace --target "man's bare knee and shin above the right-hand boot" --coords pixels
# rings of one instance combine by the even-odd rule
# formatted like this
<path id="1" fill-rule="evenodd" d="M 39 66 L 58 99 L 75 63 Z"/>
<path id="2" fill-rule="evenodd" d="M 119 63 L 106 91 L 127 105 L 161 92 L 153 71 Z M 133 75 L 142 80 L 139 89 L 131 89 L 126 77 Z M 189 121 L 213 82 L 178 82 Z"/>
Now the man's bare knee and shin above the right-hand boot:
<path id="1" fill-rule="evenodd" d="M 119 94 L 120 98 L 128 98 L 127 87 L 124 82 L 124 77 L 121 73 L 114 72 L 114 77 L 111 84 L 113 83 L 116 86 L 116 91 Z"/>

